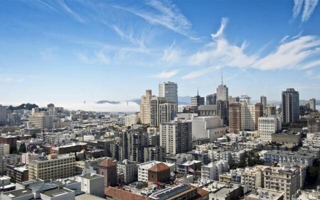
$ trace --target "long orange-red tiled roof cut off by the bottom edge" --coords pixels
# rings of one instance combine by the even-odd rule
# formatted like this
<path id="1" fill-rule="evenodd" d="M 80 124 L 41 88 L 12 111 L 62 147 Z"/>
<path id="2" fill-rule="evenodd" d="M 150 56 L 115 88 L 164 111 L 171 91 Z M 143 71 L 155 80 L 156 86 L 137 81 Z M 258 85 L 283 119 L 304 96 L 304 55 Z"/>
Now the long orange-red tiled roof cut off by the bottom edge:
<path id="1" fill-rule="evenodd" d="M 116 200 L 147 200 L 145 196 L 115 187 L 104 187 L 104 194 Z"/>

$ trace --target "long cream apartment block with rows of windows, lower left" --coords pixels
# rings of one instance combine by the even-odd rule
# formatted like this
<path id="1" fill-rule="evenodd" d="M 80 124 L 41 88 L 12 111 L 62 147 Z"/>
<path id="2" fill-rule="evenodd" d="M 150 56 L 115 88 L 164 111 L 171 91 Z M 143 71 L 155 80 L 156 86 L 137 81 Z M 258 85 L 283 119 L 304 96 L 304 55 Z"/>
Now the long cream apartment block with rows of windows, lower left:
<path id="1" fill-rule="evenodd" d="M 74 175 L 75 156 L 69 154 L 50 154 L 29 160 L 29 179 L 57 179 Z"/>

